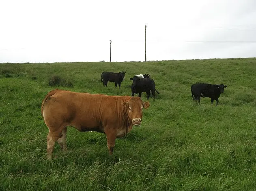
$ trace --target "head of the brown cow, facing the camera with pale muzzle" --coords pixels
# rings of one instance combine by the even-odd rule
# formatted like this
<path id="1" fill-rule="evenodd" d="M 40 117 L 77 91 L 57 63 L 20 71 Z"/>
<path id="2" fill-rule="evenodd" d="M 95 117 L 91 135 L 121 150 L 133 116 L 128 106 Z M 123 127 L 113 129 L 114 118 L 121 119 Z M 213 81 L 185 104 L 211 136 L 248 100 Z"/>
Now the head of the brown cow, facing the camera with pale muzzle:
<path id="1" fill-rule="evenodd" d="M 132 97 L 130 101 L 124 103 L 127 109 L 128 116 L 133 125 L 140 125 L 143 115 L 143 108 L 147 109 L 150 106 L 148 101 L 144 102 L 140 97 Z"/>

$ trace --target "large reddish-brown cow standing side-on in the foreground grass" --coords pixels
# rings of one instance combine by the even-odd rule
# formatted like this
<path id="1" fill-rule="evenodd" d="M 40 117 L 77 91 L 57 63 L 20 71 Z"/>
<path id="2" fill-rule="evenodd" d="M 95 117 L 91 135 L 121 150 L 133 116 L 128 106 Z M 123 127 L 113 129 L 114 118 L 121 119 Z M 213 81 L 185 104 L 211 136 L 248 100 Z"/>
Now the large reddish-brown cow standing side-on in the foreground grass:
<path id="1" fill-rule="evenodd" d="M 52 90 L 41 107 L 43 119 L 49 128 L 47 158 L 52 159 L 56 141 L 61 149 L 67 150 L 67 126 L 80 132 L 105 133 L 109 154 L 112 155 L 116 138 L 125 136 L 133 125 L 140 125 L 142 109 L 149 106 L 149 102 L 143 102 L 139 97 Z"/>

